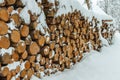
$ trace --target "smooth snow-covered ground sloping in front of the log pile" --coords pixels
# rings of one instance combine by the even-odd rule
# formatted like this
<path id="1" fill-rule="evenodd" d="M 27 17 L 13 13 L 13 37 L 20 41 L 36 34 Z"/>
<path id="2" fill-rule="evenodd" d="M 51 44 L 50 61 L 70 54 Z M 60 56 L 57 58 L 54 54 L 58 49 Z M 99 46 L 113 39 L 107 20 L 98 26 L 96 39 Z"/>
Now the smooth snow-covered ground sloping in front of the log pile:
<path id="1" fill-rule="evenodd" d="M 31 80 L 41 79 L 33 76 Z M 120 80 L 120 33 L 115 33 L 113 45 L 103 47 L 101 52 L 91 51 L 70 70 L 42 80 Z"/>

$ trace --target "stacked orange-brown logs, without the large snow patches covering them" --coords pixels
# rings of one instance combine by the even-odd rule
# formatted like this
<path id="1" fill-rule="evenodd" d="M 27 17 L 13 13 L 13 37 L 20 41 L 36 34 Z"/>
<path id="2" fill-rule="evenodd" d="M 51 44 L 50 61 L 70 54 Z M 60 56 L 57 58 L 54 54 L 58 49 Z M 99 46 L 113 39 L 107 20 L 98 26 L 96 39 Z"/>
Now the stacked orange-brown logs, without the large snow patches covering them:
<path id="1" fill-rule="evenodd" d="M 30 24 L 21 19 L 20 12 L 24 8 L 21 0 L 6 0 L 0 4 L 0 50 L 14 48 L 11 54 L 0 52 L 1 80 L 13 77 L 29 80 L 32 75 L 41 78 L 69 69 L 82 59 L 83 53 L 100 51 L 102 42 L 99 32 L 108 42 L 112 39 L 113 31 L 105 21 L 99 29 L 95 17 L 88 21 L 77 10 L 54 17 L 59 5 L 56 0 L 54 3 L 42 0 L 38 5 L 43 6 L 50 36 L 36 30 L 38 15 L 28 11 Z M 12 13 L 13 10 L 18 13 Z M 11 20 L 15 23 L 15 29 L 8 25 Z M 15 69 L 7 66 L 15 62 L 19 62 Z"/>

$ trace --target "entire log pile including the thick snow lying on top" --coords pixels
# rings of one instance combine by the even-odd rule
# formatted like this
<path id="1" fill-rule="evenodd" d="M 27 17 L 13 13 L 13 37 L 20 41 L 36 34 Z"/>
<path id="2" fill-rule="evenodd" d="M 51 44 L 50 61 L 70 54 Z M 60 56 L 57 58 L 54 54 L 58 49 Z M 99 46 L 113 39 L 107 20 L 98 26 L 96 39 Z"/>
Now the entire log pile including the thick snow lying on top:
<path id="1" fill-rule="evenodd" d="M 0 78 L 70 69 L 85 52 L 112 44 L 114 30 L 112 17 L 89 0 L 0 0 Z"/>

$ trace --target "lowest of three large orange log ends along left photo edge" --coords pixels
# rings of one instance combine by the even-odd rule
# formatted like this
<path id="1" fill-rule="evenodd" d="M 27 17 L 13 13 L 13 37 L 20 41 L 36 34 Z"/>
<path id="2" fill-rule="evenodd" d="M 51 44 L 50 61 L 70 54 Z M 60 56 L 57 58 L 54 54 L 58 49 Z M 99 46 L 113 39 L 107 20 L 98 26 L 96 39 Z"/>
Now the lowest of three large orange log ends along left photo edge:
<path id="1" fill-rule="evenodd" d="M 2 36 L 0 37 L 0 48 L 9 48 L 10 46 L 10 40 L 9 38 L 5 37 L 5 36 Z"/>

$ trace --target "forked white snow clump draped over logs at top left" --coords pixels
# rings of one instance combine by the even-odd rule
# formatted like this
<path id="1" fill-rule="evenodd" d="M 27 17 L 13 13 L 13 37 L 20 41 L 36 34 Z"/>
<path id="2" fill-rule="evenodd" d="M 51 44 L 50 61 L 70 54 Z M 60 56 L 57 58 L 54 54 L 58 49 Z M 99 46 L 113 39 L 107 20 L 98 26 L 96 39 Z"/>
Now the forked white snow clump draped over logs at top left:
<path id="1" fill-rule="evenodd" d="M 24 19 L 26 24 L 30 24 L 30 14 L 28 11 L 30 10 L 32 14 L 39 15 L 41 12 L 41 8 L 38 6 L 35 0 L 21 0 L 25 7 L 20 12 L 20 17 Z"/>

